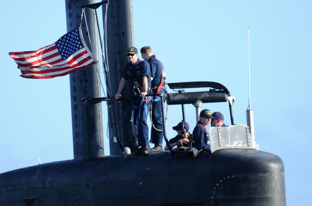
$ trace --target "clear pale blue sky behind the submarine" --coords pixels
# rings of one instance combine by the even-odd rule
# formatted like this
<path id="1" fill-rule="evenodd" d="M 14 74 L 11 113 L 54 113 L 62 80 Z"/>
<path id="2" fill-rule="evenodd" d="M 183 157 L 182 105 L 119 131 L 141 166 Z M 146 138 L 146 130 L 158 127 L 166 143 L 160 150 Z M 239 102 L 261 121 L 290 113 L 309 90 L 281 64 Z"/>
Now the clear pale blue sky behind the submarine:
<path id="1" fill-rule="evenodd" d="M 25 79 L 8 55 L 37 50 L 67 33 L 65 1 L 17 0 L 2 5 L 0 173 L 37 165 L 39 158 L 41 164 L 73 159 L 69 75 Z M 151 46 L 168 83 L 214 81 L 226 86 L 236 99 L 234 123 L 244 125 L 249 28 L 255 139 L 261 151 L 284 162 L 288 206 L 311 202 L 311 7 L 308 0 L 133 1 L 135 47 Z M 205 103 L 204 108 L 222 112 L 230 124 L 227 103 Z M 193 130 L 195 108 L 185 109 Z M 170 105 L 168 138 L 176 135 L 170 128 L 181 120 L 181 106 Z M 106 128 L 103 104 L 104 149 L 109 155 Z"/>

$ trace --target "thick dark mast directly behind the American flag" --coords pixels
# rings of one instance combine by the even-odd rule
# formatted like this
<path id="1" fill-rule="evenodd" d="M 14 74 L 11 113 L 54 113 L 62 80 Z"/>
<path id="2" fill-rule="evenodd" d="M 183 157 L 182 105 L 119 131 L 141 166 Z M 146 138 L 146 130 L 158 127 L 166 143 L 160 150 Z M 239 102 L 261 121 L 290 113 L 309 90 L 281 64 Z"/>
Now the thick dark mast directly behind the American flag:
<path id="1" fill-rule="evenodd" d="M 80 7 L 95 2 L 95 0 L 65 0 L 67 32 L 80 25 L 82 12 Z M 85 8 L 85 15 L 87 22 L 82 21 L 82 33 L 87 46 L 95 58 L 99 59 L 97 28 L 94 23 L 95 11 Z M 74 160 L 90 160 L 104 156 L 101 102 L 83 103 L 81 101 L 81 98 L 101 96 L 99 67 L 99 64 L 88 66 L 69 75 Z"/>

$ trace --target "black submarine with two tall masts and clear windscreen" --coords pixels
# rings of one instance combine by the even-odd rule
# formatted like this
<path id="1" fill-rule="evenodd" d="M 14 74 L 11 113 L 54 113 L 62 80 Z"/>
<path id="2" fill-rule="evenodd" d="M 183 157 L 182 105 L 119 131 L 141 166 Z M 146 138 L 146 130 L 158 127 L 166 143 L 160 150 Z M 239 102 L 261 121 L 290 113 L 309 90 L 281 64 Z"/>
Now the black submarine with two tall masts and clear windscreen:
<path id="1" fill-rule="evenodd" d="M 96 9 L 102 7 L 108 31 L 107 40 L 100 43 L 105 48 L 107 97 L 101 97 L 96 65 L 69 74 L 74 159 L 0 174 L 0 205 L 286 205 L 283 161 L 260 151 L 249 126 L 234 124 L 234 98 L 223 84 L 167 84 L 178 89 L 167 93 L 167 104 L 182 105 L 181 113 L 184 104 L 196 107 L 196 117 L 202 103 L 229 104 L 231 125 L 209 129 L 211 152 L 179 151 L 169 145 L 170 151 L 147 156 L 132 153 L 136 145 L 131 115 L 124 116 L 129 97 L 119 102 L 112 98 L 127 61 L 123 51 L 134 44 L 132 1 L 65 3 L 67 30 L 82 22 L 85 37 L 99 32 Z M 97 40 L 92 45 L 96 47 Z M 196 88 L 207 91 L 188 92 Z M 102 102 L 110 114 L 109 156 L 103 150 Z M 165 124 L 163 129 L 168 145 Z"/>

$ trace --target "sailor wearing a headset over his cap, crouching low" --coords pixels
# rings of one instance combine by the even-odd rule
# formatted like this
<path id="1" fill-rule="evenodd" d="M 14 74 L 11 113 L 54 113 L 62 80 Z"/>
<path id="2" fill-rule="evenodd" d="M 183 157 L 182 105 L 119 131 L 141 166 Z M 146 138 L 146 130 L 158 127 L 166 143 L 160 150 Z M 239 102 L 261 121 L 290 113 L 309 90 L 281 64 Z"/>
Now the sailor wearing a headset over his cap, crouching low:
<path id="1" fill-rule="evenodd" d="M 189 133 L 190 125 L 188 122 L 179 122 L 177 126 L 172 127 L 173 130 L 178 132 L 178 135 L 169 140 L 170 146 L 173 148 L 177 145 L 186 145 L 189 144 L 189 138 L 192 137 L 192 134 Z M 169 150 L 168 146 L 165 146 L 165 150 Z"/>

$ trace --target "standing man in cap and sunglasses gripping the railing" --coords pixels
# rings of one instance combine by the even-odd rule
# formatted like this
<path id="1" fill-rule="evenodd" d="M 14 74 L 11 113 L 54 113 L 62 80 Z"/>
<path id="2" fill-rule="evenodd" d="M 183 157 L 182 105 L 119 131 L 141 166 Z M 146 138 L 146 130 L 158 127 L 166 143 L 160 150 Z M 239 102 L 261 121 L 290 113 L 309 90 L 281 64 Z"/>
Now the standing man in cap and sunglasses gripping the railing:
<path id="1" fill-rule="evenodd" d="M 130 47 L 126 53 L 128 55 L 128 62 L 124 67 L 124 72 L 121 74 L 121 80 L 115 99 L 121 97 L 121 91 L 128 80 L 131 80 L 131 85 L 135 86 L 135 91 L 138 91 L 140 97 L 131 98 L 132 107 L 134 109 L 133 123 L 138 138 L 138 146 L 141 146 L 134 153 L 149 154 L 151 148 L 149 147 L 149 127 L 147 124 L 147 117 L 150 109 L 150 97 L 145 97 L 150 94 L 151 73 L 150 66 L 147 61 L 139 59 L 138 49 Z M 134 93 L 136 94 L 136 93 Z"/>

